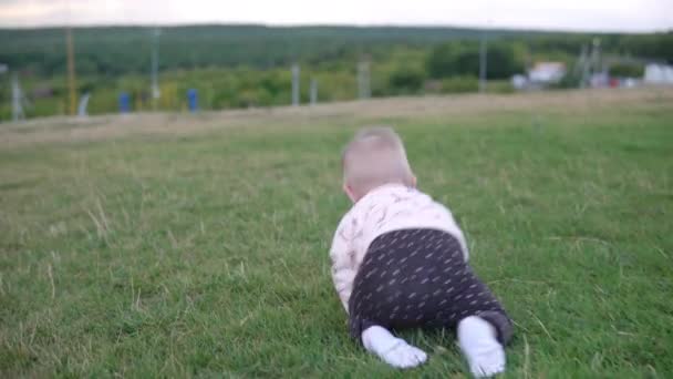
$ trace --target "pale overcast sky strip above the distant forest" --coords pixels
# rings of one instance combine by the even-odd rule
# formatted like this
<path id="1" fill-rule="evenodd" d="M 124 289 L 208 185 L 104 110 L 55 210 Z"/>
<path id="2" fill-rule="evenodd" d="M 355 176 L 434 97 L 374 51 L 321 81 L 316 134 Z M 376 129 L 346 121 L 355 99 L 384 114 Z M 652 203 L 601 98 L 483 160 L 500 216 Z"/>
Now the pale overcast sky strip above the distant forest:
<path id="1" fill-rule="evenodd" d="M 4 28 L 230 22 L 662 31 L 673 0 L 0 0 Z"/>

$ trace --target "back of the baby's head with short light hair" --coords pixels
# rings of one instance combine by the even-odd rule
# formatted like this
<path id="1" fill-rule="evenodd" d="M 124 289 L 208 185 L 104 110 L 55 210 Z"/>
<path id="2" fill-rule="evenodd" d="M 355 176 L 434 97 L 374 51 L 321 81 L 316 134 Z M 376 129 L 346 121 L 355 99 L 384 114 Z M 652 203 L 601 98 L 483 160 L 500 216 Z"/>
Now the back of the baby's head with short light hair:
<path id="1" fill-rule="evenodd" d="M 384 184 L 416 186 L 402 140 L 391 127 L 358 132 L 343 150 L 341 163 L 343 191 L 353 203 Z"/>

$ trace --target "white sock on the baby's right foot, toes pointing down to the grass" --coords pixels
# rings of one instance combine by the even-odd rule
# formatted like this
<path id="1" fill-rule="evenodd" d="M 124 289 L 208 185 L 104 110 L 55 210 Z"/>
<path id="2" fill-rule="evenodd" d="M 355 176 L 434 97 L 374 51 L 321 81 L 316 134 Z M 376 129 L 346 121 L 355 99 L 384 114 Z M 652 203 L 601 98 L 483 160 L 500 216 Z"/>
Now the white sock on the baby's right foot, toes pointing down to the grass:
<path id="1" fill-rule="evenodd" d="M 458 345 L 475 377 L 491 377 L 505 371 L 505 349 L 496 339 L 493 325 L 483 318 L 470 316 L 458 324 Z"/>

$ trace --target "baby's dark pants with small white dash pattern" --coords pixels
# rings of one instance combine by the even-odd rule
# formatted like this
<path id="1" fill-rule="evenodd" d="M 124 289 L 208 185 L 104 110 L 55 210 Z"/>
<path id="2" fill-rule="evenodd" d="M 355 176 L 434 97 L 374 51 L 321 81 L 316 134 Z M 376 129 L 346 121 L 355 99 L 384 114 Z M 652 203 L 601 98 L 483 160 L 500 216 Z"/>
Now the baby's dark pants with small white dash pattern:
<path id="1" fill-rule="evenodd" d="M 371 326 L 455 328 L 468 316 L 490 322 L 506 345 L 512 327 L 490 290 L 465 263 L 458 240 L 435 229 L 379 236 L 369 247 L 349 300 L 351 336 Z"/>

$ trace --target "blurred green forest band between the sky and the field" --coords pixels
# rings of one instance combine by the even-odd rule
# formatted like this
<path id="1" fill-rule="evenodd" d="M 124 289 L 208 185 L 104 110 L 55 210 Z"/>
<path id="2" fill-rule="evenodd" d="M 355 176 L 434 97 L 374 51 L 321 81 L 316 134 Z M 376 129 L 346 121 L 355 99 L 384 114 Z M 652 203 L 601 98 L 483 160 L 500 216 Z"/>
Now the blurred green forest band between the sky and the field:
<path id="1" fill-rule="evenodd" d="M 486 33 L 488 79 L 507 91 L 508 79 L 537 61 L 574 64 L 582 47 L 600 40 L 604 57 L 627 59 L 636 73 L 648 61 L 673 63 L 673 33 L 596 34 L 457 28 L 199 25 L 161 29 L 162 100 L 148 103 L 153 29 L 73 29 L 77 90 L 91 92 L 91 112 L 115 112 L 117 93 L 134 110 L 180 110 L 186 89 L 199 90 L 204 109 L 269 106 L 290 99 L 292 63 L 301 65 L 302 100 L 318 81 L 321 101 L 356 96 L 355 68 L 371 62 L 374 96 L 464 92 L 476 89 L 478 50 Z M 19 73 L 29 115 L 65 112 L 63 29 L 1 30 L 0 63 Z M 4 76 L 4 78 L 2 78 Z M 0 120 L 9 116 L 8 75 L 0 75 Z"/>

